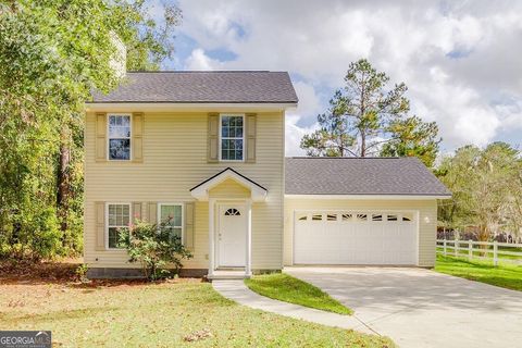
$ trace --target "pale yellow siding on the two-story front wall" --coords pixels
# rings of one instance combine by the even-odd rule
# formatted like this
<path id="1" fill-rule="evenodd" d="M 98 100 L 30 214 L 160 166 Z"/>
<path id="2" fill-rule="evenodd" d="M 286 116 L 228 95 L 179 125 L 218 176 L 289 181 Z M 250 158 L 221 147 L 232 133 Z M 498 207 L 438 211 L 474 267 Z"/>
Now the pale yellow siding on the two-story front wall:
<path id="1" fill-rule="evenodd" d="M 219 110 L 216 110 L 219 112 Z M 248 112 L 248 110 L 245 110 Z M 266 202 L 252 207 L 252 268 L 281 269 L 283 254 L 284 113 L 257 113 L 256 163 L 208 163 L 207 112 L 144 111 L 142 163 L 95 161 L 95 113 L 86 114 L 85 130 L 85 262 L 91 268 L 137 268 L 122 250 L 98 251 L 95 202 L 195 201 L 189 189 L 231 166 L 269 190 Z M 237 185 L 234 183 L 234 185 Z M 243 187 L 222 183 L 245 195 Z M 229 187 L 231 188 L 231 187 Z M 194 259 L 187 269 L 209 265 L 208 202 L 195 204 Z"/>

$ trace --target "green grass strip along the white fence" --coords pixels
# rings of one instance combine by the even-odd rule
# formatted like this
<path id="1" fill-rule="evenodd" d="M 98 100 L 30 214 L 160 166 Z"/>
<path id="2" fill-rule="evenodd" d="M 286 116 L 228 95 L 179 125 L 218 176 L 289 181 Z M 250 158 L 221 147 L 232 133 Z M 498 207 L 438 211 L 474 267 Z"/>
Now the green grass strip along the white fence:
<path id="1" fill-rule="evenodd" d="M 500 263 L 495 268 L 490 261 L 437 256 L 435 271 L 522 291 L 522 265 Z"/>

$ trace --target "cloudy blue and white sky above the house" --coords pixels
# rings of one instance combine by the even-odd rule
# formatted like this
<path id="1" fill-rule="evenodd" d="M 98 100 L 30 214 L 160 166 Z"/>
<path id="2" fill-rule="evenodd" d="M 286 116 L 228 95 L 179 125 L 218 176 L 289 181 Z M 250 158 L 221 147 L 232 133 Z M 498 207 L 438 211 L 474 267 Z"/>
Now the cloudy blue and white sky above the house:
<path id="1" fill-rule="evenodd" d="M 161 20 L 165 0 L 150 0 Z M 287 112 L 286 154 L 368 59 L 409 87 L 411 113 L 436 121 L 440 150 L 522 145 L 522 1 L 178 0 L 170 70 L 287 71 L 299 105 Z"/>

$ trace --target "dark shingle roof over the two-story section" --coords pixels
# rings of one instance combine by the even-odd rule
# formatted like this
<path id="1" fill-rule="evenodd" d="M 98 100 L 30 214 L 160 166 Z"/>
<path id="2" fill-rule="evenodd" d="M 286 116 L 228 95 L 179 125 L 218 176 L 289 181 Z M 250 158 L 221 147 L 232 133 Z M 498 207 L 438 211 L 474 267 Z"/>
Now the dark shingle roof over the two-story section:
<path id="1" fill-rule="evenodd" d="M 135 72 L 92 102 L 296 103 L 286 72 Z"/>

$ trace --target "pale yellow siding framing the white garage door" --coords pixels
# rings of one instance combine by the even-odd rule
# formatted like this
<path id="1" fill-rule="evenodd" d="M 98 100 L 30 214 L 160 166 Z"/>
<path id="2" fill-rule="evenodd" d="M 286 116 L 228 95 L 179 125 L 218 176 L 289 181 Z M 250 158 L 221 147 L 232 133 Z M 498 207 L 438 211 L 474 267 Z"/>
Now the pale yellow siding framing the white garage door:
<path id="1" fill-rule="evenodd" d="M 286 199 L 284 263 L 293 263 L 294 211 L 296 210 L 415 210 L 419 211 L 419 265 L 435 265 L 437 231 L 437 201 L 430 200 L 341 200 L 341 199 Z"/>

